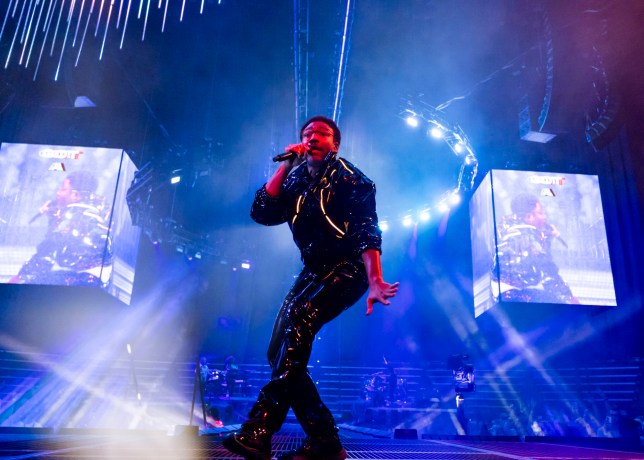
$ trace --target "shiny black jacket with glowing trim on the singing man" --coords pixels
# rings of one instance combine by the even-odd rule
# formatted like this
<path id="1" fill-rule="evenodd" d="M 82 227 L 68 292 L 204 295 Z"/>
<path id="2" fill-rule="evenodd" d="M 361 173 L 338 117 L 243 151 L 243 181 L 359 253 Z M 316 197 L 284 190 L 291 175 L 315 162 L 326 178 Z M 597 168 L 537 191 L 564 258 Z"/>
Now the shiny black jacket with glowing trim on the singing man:
<path id="1" fill-rule="evenodd" d="M 330 154 L 316 179 L 303 163 L 288 175 L 279 196 L 271 197 L 263 186 L 250 214 L 263 225 L 288 222 L 304 265 L 323 274 L 340 262 L 362 264 L 366 249 L 380 251 L 375 196 L 367 176 Z"/>

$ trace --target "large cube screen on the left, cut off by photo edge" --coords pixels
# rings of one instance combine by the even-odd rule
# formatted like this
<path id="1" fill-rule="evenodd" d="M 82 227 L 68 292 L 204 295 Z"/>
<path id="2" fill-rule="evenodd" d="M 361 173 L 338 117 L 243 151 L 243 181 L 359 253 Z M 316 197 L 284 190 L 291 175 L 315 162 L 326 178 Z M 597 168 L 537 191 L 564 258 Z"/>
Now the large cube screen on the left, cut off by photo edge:
<path id="1" fill-rule="evenodd" d="M 98 286 L 129 304 L 139 244 L 120 149 L 0 147 L 0 282 Z"/>

